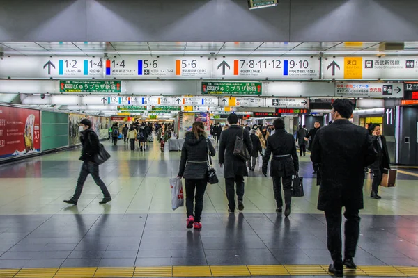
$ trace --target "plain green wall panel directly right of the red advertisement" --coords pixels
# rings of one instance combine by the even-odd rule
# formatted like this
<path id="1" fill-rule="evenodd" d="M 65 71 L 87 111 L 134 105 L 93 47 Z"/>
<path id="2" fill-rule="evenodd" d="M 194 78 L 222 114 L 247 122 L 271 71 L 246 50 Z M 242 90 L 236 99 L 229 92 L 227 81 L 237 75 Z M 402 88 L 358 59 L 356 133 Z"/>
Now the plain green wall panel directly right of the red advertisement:
<path id="1" fill-rule="evenodd" d="M 42 111 L 42 151 L 68 146 L 68 114 Z"/>

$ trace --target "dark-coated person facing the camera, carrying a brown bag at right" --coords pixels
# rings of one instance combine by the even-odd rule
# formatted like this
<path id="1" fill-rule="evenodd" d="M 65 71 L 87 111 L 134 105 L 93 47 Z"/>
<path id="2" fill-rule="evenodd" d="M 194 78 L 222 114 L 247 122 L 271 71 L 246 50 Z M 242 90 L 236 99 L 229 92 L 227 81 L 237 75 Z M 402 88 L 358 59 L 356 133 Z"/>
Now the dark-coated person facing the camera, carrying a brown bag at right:
<path id="1" fill-rule="evenodd" d="M 380 183 L 382 183 L 383 170 L 390 169 L 389 152 L 387 151 L 386 138 L 385 136 L 382 136 L 380 124 L 371 124 L 369 129 L 372 134 L 371 140 L 373 142 L 373 147 L 378 153 L 376 161 L 371 164 L 373 181 L 371 183 L 370 197 L 373 199 L 382 199 L 382 197 L 378 195 L 378 188 Z"/>

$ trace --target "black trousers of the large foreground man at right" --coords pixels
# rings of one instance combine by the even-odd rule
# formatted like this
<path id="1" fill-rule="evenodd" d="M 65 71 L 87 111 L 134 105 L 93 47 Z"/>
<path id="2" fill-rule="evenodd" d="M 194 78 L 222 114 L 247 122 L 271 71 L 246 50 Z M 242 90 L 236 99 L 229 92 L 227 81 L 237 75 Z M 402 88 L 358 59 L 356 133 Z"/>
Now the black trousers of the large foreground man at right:
<path id="1" fill-rule="evenodd" d="M 355 256 L 357 241 L 360 232 L 360 217 L 357 208 L 346 207 L 344 212 L 346 224 L 344 225 L 345 248 L 344 258 L 350 259 Z M 343 260 L 341 257 L 342 241 L 341 241 L 341 208 L 325 211 L 327 220 L 327 246 L 330 251 L 332 261 L 337 269 L 343 268 Z"/>

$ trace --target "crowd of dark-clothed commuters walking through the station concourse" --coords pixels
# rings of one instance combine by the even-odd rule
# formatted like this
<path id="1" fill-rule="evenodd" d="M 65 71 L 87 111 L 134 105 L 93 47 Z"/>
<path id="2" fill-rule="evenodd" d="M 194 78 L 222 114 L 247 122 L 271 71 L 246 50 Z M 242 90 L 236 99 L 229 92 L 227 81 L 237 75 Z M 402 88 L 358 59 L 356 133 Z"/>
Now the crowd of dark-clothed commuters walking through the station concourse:
<path id="1" fill-rule="evenodd" d="M 227 118 L 228 125 L 212 125 L 210 134 L 219 141 L 219 167 L 223 168 L 226 199 L 229 213 L 235 213 L 238 200 L 238 211 L 244 210 L 245 176 L 248 170 L 254 170 L 256 159 L 262 157 L 262 172 L 267 177 L 270 161 L 270 177 L 276 200 L 277 213 L 283 212 L 288 217 L 291 214 L 292 181 L 298 175 L 299 156 L 306 156 L 306 145 L 309 141 L 311 161 L 314 172 L 318 173 L 319 196 L 318 210 L 325 212 L 327 222 L 327 247 L 333 263 L 329 271 L 337 277 L 342 277 L 343 266 L 355 269 L 354 256 L 359 239 L 359 210 L 364 208 L 363 186 L 364 168 L 373 171 L 371 197 L 380 199 L 378 186 L 382 182 L 384 169 L 389 169 L 389 154 L 385 137 L 379 124 L 369 124 L 368 129 L 356 126 L 348 119 L 353 113 L 353 104 L 348 99 L 336 99 L 332 104 L 332 120 L 327 126 L 315 122 L 314 129 L 307 131 L 300 125 L 295 137 L 286 131 L 284 120 L 274 120 L 273 126 L 254 126 L 238 124 L 238 115 L 232 113 Z M 77 181 L 74 195 L 64 202 L 77 205 L 82 193 L 84 181 L 88 174 L 93 176 L 95 183 L 104 195 L 100 204 L 111 201 L 107 187 L 99 177 L 99 167 L 95 163 L 95 154 L 99 152 L 99 139 L 91 129 L 91 122 L 81 121 L 79 126 L 84 161 Z M 134 123 L 130 127 L 125 124 L 121 130 L 125 144 L 130 142 L 134 150 L 135 142 L 139 142 L 141 150 L 146 149 L 148 136 L 153 131 L 164 151 L 173 133 L 170 124 Z M 118 126 L 112 126 L 111 137 L 117 144 L 120 131 Z M 141 139 L 145 138 L 145 139 Z M 237 141 L 240 140 L 240 147 Z M 297 145 L 296 145 L 297 142 Z M 299 147 L 299 155 L 297 154 Z M 237 155 L 237 148 L 247 152 L 249 158 Z M 244 153 L 245 153 L 244 152 Z M 215 156 L 216 151 L 209 140 L 202 122 L 194 122 L 192 131 L 185 133 L 185 143 L 182 147 L 178 177 L 185 179 L 187 228 L 201 229 L 203 211 L 203 196 L 208 183 L 209 156 Z M 282 187 L 284 202 L 282 198 Z M 345 248 L 342 254 L 341 240 L 341 210 L 346 218 L 344 227 Z"/>

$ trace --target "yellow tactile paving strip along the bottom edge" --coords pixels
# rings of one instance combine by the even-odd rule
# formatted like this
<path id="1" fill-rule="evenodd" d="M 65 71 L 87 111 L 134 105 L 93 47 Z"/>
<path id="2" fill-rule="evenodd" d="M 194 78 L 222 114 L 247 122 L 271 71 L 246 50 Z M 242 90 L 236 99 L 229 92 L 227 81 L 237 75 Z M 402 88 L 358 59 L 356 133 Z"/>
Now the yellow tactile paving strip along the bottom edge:
<path id="1" fill-rule="evenodd" d="M 0 269 L 0 278 L 327 276 L 328 265 L 164 266 L 155 268 Z M 418 267 L 358 266 L 345 276 L 418 277 Z"/>

